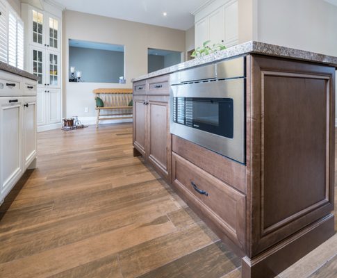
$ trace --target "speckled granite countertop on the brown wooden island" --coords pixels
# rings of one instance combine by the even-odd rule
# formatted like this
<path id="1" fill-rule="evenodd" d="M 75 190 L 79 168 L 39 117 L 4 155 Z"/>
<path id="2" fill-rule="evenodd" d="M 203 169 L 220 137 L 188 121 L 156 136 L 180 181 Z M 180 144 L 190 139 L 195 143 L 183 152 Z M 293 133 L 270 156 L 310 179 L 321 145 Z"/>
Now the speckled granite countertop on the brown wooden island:
<path id="1" fill-rule="evenodd" d="M 156 72 L 151 72 L 132 79 L 132 82 L 140 81 L 142 79 L 149 79 L 154 76 L 160 76 L 164 74 L 170 74 L 172 72 L 177 72 L 179 70 L 185 70 L 189 67 L 195 67 L 197 65 L 203 65 L 206 63 L 212 63 L 217 60 L 222 60 L 226 58 L 231 58 L 234 56 L 240 56 L 244 54 L 263 54 L 268 56 L 276 56 L 283 58 L 290 58 L 295 60 L 306 60 L 310 62 L 323 63 L 337 67 L 337 57 L 327 56 L 323 54 L 313 53 L 310 51 L 304 51 L 299 49 L 293 49 L 288 47 L 281 47 L 274 44 L 266 44 L 264 42 L 245 42 L 243 44 L 238 44 L 233 47 L 229 47 L 222 51 L 218 51 L 207 56 L 202 56 L 201 58 L 195 58 L 194 60 L 189 60 L 187 62 L 173 65 L 172 67 L 166 67 L 163 70 L 158 70 Z"/>

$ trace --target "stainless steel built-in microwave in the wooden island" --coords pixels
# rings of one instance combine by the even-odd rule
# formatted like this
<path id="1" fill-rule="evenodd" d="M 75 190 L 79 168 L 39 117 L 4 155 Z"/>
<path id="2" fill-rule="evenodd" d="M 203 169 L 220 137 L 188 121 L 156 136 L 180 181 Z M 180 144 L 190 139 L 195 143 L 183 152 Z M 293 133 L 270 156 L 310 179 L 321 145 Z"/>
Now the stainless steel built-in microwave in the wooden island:
<path id="1" fill-rule="evenodd" d="M 245 163 L 245 58 L 171 75 L 172 134 Z"/>

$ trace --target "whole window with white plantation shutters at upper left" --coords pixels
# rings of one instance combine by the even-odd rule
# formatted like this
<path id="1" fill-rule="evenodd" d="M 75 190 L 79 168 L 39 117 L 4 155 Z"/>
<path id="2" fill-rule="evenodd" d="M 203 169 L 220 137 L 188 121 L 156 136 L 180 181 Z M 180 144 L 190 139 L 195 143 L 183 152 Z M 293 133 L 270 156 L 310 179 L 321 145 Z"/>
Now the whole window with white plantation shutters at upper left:
<path id="1" fill-rule="evenodd" d="M 0 0 L 0 60 L 24 69 L 24 23 L 7 1 Z"/>

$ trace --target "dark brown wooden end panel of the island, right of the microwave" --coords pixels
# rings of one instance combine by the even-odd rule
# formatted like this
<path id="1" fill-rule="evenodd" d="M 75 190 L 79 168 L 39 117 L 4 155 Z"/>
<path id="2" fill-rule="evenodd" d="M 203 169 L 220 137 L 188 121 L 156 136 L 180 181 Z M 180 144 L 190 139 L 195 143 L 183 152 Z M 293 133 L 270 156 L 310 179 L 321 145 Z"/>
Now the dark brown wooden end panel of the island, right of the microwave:
<path id="1" fill-rule="evenodd" d="M 252 56 L 250 256 L 334 209 L 334 68 Z"/>

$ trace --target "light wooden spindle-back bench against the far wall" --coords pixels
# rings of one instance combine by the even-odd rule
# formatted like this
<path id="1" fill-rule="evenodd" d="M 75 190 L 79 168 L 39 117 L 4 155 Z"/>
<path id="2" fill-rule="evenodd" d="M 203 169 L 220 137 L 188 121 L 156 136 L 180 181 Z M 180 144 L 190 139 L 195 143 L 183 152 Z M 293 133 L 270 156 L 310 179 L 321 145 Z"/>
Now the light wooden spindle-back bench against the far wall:
<path id="1" fill-rule="evenodd" d="M 104 103 L 104 107 L 96 107 L 97 120 L 96 127 L 100 120 L 132 119 L 133 106 L 129 106 L 132 100 L 132 89 L 96 89 L 94 98 L 99 97 Z M 101 111 L 113 111 L 114 113 L 101 113 Z"/>

